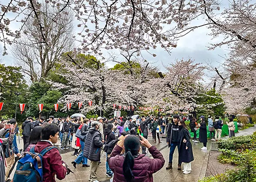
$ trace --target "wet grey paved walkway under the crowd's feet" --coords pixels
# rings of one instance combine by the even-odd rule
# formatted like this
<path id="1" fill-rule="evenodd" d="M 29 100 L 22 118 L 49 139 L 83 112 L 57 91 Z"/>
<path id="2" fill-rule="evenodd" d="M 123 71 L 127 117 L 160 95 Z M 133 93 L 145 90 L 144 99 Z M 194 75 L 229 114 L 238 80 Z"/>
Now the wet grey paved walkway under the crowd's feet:
<path id="1" fill-rule="evenodd" d="M 242 130 L 239 133 L 236 133 L 236 136 L 241 135 L 248 135 L 252 134 L 254 131 L 256 131 L 256 127 L 248 128 L 246 130 Z M 199 179 L 202 179 L 205 177 L 206 174 L 206 168 L 207 163 L 209 159 L 209 150 L 211 149 L 211 141 L 208 140 L 207 151 L 202 151 L 200 148 L 202 148 L 202 143 L 192 143 L 193 147 L 193 154 L 194 154 L 194 161 L 192 162 L 192 172 L 189 175 L 184 175 L 182 171 L 177 170 L 178 165 L 178 150 L 175 149 L 175 153 L 173 156 L 173 169 L 166 170 L 165 167 L 168 166 L 168 156 L 169 156 L 169 148 L 166 146 L 166 139 L 162 138 L 162 143 L 154 143 L 152 140 L 152 137 L 149 136 L 149 142 L 155 145 L 158 149 L 161 150 L 161 153 L 163 154 L 165 158 L 165 166 L 158 172 L 156 172 L 154 176 L 154 182 L 197 182 Z M 18 142 L 17 142 L 18 143 Z M 20 144 L 18 144 L 19 148 L 23 147 L 23 140 L 20 138 Z M 71 165 L 71 162 L 76 158 L 75 156 L 71 156 L 73 153 L 73 149 L 64 149 L 60 150 L 62 159 L 69 164 L 71 170 L 73 170 L 74 174 L 67 175 L 67 177 L 64 180 L 61 180 L 61 182 L 88 182 L 89 178 L 89 168 L 83 168 L 81 164 L 77 165 L 77 168 L 74 169 L 74 167 Z M 105 167 L 105 155 L 103 154 L 101 157 L 101 164 L 98 167 L 97 174 L 98 174 L 98 180 L 100 182 L 109 182 L 109 179 L 106 174 L 106 167 Z M 89 161 L 88 161 L 89 162 Z M 183 167 L 183 165 L 182 165 Z M 11 177 L 13 176 L 12 175 Z M 60 182 L 57 180 L 57 182 Z"/>

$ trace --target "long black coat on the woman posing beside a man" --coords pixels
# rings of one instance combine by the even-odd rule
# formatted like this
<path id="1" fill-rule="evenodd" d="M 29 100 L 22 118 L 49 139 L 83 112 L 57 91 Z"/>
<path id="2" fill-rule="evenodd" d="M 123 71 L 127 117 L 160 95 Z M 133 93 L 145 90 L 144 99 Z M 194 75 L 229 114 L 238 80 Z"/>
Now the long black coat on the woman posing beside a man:
<path id="1" fill-rule="evenodd" d="M 186 140 L 186 143 L 183 143 L 183 140 Z M 188 149 L 186 149 L 186 146 Z M 179 162 L 191 162 L 194 160 L 192 144 L 190 142 L 189 130 L 179 126 Z"/>

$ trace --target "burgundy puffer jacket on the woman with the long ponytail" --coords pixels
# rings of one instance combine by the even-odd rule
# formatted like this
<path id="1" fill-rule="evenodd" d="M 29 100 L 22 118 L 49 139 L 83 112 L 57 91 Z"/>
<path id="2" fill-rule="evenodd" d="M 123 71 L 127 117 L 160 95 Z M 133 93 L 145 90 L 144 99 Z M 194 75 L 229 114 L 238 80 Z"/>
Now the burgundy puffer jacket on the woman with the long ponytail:
<path id="1" fill-rule="evenodd" d="M 113 182 L 126 182 L 123 175 L 125 157 L 120 155 L 121 151 L 122 148 L 116 145 L 108 161 L 109 167 L 114 172 Z M 135 178 L 132 182 L 153 182 L 153 173 L 159 171 L 164 166 L 165 159 L 155 146 L 150 147 L 148 151 L 154 159 L 146 157 L 145 154 L 140 154 L 134 159 L 132 173 Z"/>

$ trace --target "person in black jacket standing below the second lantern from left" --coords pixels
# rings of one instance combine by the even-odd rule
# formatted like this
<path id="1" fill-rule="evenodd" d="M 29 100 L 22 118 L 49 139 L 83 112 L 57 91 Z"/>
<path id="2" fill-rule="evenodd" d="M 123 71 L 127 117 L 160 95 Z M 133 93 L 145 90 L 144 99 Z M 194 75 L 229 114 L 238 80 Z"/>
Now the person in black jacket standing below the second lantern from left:
<path id="1" fill-rule="evenodd" d="M 27 120 L 22 124 L 21 129 L 23 130 L 22 135 L 23 135 L 23 150 L 25 151 L 27 149 L 28 143 L 29 143 L 29 138 L 31 131 L 34 127 L 32 124 L 33 122 L 33 117 L 28 117 Z"/>

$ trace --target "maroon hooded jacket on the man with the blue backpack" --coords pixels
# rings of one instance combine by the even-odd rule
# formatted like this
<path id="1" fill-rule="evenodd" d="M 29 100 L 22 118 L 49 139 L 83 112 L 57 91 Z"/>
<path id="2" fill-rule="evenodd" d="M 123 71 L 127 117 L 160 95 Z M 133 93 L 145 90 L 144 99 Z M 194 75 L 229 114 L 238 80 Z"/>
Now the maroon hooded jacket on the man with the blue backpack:
<path id="1" fill-rule="evenodd" d="M 48 146 L 52 146 L 50 142 L 39 141 L 34 147 L 35 152 L 40 153 Z M 61 154 L 58 149 L 51 149 L 43 156 L 43 182 L 55 182 L 57 179 L 62 180 L 66 177 L 67 169 L 62 166 Z"/>

